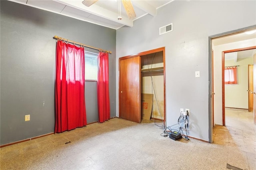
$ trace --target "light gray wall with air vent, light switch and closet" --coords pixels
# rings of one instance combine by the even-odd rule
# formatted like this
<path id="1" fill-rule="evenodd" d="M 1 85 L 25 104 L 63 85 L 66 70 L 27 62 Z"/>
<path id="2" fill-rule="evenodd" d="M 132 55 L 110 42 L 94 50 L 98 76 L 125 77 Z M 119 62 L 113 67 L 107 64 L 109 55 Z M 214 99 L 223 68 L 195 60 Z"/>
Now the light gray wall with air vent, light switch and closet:
<path id="1" fill-rule="evenodd" d="M 159 28 L 170 23 L 173 31 L 160 36 Z M 117 30 L 116 79 L 119 57 L 165 47 L 167 126 L 177 123 L 180 108 L 190 109 L 189 135 L 209 141 L 208 37 L 255 24 L 256 1 L 173 1 L 158 8 L 156 17 Z"/>

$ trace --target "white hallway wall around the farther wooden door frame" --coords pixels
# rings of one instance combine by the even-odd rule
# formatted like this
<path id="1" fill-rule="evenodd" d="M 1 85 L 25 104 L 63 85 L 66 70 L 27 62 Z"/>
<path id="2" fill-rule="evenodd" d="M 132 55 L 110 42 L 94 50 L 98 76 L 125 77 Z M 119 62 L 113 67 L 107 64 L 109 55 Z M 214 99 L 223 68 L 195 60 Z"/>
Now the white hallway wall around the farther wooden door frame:
<path id="1" fill-rule="evenodd" d="M 256 45 L 255 39 L 213 46 L 214 50 L 214 123 L 222 123 L 222 51 Z"/>

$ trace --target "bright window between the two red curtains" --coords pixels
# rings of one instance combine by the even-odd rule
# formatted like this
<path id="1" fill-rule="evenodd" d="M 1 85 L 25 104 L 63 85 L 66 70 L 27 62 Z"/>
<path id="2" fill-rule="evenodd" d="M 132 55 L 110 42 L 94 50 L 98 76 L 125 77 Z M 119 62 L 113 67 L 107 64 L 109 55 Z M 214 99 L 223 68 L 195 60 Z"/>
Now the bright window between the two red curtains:
<path id="1" fill-rule="evenodd" d="M 98 54 L 89 51 L 84 51 L 85 61 L 85 79 L 96 80 L 98 79 Z"/>

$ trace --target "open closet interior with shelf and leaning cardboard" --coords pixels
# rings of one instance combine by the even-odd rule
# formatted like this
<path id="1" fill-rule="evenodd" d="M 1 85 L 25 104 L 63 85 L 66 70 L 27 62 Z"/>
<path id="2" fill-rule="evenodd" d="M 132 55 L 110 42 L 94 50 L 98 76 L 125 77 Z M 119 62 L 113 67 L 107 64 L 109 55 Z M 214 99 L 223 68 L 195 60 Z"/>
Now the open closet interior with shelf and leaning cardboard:
<path id="1" fill-rule="evenodd" d="M 163 51 L 141 56 L 142 121 L 164 121 Z"/>

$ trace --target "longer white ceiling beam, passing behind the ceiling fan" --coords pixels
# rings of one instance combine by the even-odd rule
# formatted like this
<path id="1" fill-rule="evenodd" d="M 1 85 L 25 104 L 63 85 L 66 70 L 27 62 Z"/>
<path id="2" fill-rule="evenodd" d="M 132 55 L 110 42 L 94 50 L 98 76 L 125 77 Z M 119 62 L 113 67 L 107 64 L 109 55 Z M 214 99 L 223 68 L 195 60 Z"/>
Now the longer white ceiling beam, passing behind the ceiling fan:
<path id="1" fill-rule="evenodd" d="M 78 0 L 54 0 L 56 2 L 68 5 L 68 6 L 72 6 L 73 8 L 79 9 L 79 10 L 83 10 L 85 12 L 88 12 L 90 14 L 96 15 L 96 16 L 100 16 L 102 18 L 120 23 L 120 24 L 124 24 L 126 26 L 132 27 L 133 26 L 133 21 L 129 20 L 128 17 L 126 16 L 122 16 L 122 20 L 118 20 L 118 14 L 115 12 L 112 12 L 110 10 L 107 10 L 106 8 L 102 8 L 100 6 L 97 6 L 96 4 L 93 4 L 90 7 L 85 6 L 84 4 L 82 4 L 82 1 L 78 1 Z"/>

